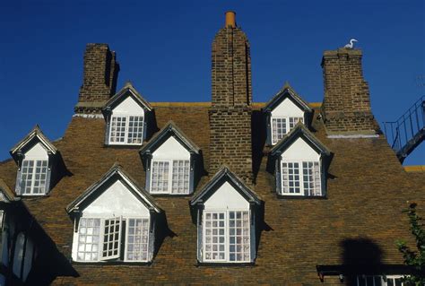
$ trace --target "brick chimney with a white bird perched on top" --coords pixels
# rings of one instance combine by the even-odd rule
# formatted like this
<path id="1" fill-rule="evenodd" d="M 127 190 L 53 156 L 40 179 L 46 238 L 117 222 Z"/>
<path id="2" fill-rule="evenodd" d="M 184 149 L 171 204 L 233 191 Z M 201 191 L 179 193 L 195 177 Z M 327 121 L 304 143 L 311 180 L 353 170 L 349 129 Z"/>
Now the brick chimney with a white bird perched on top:
<path id="1" fill-rule="evenodd" d="M 322 115 L 327 134 L 376 134 L 369 84 L 363 78 L 359 49 L 325 51 Z"/>

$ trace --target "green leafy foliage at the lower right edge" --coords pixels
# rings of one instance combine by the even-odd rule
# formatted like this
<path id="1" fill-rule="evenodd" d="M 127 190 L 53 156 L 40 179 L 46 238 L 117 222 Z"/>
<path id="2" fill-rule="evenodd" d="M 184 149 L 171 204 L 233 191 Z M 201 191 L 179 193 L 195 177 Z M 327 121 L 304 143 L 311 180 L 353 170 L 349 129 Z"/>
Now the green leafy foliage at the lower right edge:
<path id="1" fill-rule="evenodd" d="M 398 250 L 403 254 L 404 264 L 409 265 L 414 270 L 410 276 L 404 277 L 404 283 L 407 285 L 422 286 L 425 285 L 425 230 L 423 230 L 422 218 L 416 213 L 417 204 L 410 204 L 409 209 L 405 210 L 410 221 L 410 230 L 416 240 L 417 250 L 407 247 L 403 240 L 397 241 Z"/>

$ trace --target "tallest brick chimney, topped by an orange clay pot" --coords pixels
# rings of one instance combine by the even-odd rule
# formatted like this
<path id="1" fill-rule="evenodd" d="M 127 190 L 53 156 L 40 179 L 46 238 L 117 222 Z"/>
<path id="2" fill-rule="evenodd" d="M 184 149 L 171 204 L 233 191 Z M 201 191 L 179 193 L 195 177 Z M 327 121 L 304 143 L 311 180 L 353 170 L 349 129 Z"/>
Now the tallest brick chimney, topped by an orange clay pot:
<path id="1" fill-rule="evenodd" d="M 212 107 L 210 172 L 222 164 L 247 183 L 252 182 L 251 57 L 245 33 L 226 13 L 225 27 L 212 42 Z"/>

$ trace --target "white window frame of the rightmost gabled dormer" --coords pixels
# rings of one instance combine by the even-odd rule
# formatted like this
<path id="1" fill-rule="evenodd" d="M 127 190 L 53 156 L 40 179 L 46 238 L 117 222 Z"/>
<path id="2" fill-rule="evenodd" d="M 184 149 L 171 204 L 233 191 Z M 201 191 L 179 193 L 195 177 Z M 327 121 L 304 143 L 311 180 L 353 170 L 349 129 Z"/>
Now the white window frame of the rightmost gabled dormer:
<path id="1" fill-rule="evenodd" d="M 313 163 L 313 167 L 312 167 L 312 170 L 313 170 L 313 177 L 315 176 L 315 174 L 314 174 L 314 164 L 315 163 L 317 163 L 317 168 L 318 168 L 318 175 L 319 175 L 319 178 L 318 178 L 318 180 L 316 181 L 314 181 L 314 183 L 317 183 L 318 184 L 318 186 L 314 186 L 313 187 L 313 191 L 315 191 L 315 190 L 318 190 L 318 193 L 319 194 L 315 194 L 315 195 L 311 195 L 311 194 L 308 194 L 308 195 L 306 195 L 306 189 L 305 189 L 305 187 L 304 187 L 304 176 L 305 176 L 305 174 L 304 174 L 304 168 L 303 168 L 303 163 L 310 163 L 310 162 L 312 162 Z M 283 167 L 283 164 L 293 164 L 293 163 L 298 163 L 299 164 L 299 193 L 285 193 L 285 192 L 283 192 L 283 185 L 284 185 L 284 176 L 285 176 L 285 174 L 284 174 L 284 169 L 288 169 L 288 167 L 286 167 L 286 168 L 284 168 Z M 282 159 L 281 160 L 281 165 L 280 165 L 280 168 L 281 168 L 281 190 L 280 190 L 280 194 L 279 195 L 302 195 L 302 196 L 321 196 L 321 195 L 323 195 L 323 186 L 322 186 L 322 162 L 321 162 L 321 160 L 299 160 L 299 159 L 294 159 L 294 160 L 291 160 L 291 159 L 287 159 L 287 158 L 285 158 L 285 159 Z M 307 175 L 307 174 L 306 174 Z M 290 175 L 289 175 L 289 173 L 287 174 L 287 176 L 289 177 Z M 288 182 L 289 182 L 290 180 L 289 180 L 289 178 L 288 178 Z M 290 186 L 287 186 L 288 188 L 290 187 Z M 309 192 L 311 192 L 311 190 L 309 190 Z"/>

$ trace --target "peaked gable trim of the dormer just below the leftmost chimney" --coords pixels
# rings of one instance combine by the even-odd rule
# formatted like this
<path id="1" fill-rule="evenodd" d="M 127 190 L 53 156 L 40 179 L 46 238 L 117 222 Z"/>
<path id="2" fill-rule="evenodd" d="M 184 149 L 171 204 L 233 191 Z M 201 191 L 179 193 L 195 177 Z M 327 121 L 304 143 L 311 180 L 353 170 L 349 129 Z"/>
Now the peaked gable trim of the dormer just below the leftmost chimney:
<path id="1" fill-rule="evenodd" d="M 143 96 L 135 90 L 131 82 L 126 82 L 124 87 L 105 103 L 105 106 L 102 108 L 103 115 L 107 116 L 111 110 L 126 100 L 127 97 L 131 97 L 141 108 L 152 111 L 152 105 L 147 100 L 143 99 Z"/>

